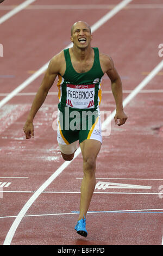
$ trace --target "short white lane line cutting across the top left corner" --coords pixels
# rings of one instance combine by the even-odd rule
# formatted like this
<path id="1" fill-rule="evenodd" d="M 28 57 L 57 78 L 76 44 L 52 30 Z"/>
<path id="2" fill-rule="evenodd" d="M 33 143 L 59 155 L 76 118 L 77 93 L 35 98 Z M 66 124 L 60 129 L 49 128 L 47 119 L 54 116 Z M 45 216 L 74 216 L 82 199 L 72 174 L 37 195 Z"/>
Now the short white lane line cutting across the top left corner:
<path id="1" fill-rule="evenodd" d="M 36 0 L 27 0 L 27 1 L 23 2 L 22 4 L 18 5 L 13 10 L 9 11 L 9 13 L 5 14 L 4 16 L 2 16 L 0 18 L 0 24 L 2 24 L 4 21 L 7 21 L 8 19 L 10 19 L 10 17 L 12 17 L 13 15 L 17 14 L 19 11 L 23 10 L 29 4 L 31 4 L 31 3 L 35 2 L 35 1 Z"/>

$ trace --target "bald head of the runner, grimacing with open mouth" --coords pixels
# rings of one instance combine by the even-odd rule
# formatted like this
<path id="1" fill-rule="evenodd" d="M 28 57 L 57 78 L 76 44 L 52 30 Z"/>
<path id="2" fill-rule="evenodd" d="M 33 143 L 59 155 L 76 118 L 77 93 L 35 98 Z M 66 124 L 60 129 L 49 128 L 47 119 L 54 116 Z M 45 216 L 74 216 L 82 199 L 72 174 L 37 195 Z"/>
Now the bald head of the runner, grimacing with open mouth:
<path id="1" fill-rule="evenodd" d="M 89 46 L 92 39 L 90 27 L 85 22 L 77 22 L 73 25 L 71 41 L 78 48 Z"/>

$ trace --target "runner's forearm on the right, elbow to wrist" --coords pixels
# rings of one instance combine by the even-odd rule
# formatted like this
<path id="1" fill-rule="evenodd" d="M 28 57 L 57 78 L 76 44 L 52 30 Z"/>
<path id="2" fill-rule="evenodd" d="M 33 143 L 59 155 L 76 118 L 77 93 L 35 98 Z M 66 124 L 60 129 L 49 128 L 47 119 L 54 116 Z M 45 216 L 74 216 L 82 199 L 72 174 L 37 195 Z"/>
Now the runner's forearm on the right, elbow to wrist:
<path id="1" fill-rule="evenodd" d="M 112 94 L 116 102 L 116 109 L 123 110 L 123 96 L 122 96 L 122 82 L 121 78 L 117 78 L 115 81 L 111 82 Z"/>

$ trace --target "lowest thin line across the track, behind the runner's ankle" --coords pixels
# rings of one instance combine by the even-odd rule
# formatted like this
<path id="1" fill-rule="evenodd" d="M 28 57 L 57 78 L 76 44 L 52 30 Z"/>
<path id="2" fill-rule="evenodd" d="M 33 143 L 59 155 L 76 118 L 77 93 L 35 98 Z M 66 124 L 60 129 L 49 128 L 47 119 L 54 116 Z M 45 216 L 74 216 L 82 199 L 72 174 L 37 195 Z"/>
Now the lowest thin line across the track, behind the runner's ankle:
<path id="1" fill-rule="evenodd" d="M 137 212 L 137 211 L 160 211 L 163 209 L 144 209 L 144 210 L 118 210 L 118 211 L 108 211 L 108 212 Z M 100 211 L 100 213 L 106 213 L 107 211 Z M 88 211 L 87 214 L 96 214 L 99 211 Z M 78 212 L 65 212 L 60 214 L 33 214 L 33 215 L 24 215 L 24 217 L 37 217 L 37 216 L 54 216 L 54 215 L 71 215 L 71 214 L 78 214 Z M 1 216 L 0 218 L 16 218 L 17 216 Z"/>

